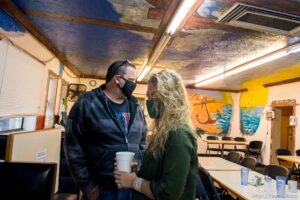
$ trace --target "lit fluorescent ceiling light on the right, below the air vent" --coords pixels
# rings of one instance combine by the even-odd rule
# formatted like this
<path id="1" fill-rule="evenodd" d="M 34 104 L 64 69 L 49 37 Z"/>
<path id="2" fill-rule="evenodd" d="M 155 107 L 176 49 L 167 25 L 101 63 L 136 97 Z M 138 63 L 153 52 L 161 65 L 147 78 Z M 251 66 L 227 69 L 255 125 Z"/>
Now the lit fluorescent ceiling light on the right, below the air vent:
<path id="1" fill-rule="evenodd" d="M 202 79 L 202 80 L 198 81 L 195 84 L 195 86 L 200 87 L 200 86 L 203 86 L 203 85 L 207 85 L 209 83 L 213 83 L 215 81 L 224 79 L 228 76 L 232 76 L 232 75 L 241 73 L 243 71 L 253 69 L 253 68 L 258 67 L 262 64 L 271 62 L 273 60 L 277 60 L 279 58 L 282 58 L 284 56 L 287 56 L 289 54 L 296 53 L 296 52 L 300 52 L 300 43 L 297 43 L 295 45 L 292 45 L 292 46 L 289 46 L 289 47 L 286 47 L 286 48 L 283 48 L 283 49 L 280 49 L 280 50 L 277 50 L 273 53 L 270 53 L 270 54 L 267 54 L 267 55 L 262 56 L 260 58 L 257 58 L 255 60 L 249 61 L 245 64 L 230 68 L 230 69 L 225 70 L 224 72 L 219 73 L 217 75 L 212 75 L 209 78 Z"/>

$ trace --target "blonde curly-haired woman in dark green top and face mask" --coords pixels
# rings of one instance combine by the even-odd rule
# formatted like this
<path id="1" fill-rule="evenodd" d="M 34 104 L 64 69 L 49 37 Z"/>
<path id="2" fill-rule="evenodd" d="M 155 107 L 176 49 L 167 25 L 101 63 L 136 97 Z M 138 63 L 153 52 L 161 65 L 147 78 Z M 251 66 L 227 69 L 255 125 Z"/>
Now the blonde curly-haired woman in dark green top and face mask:
<path id="1" fill-rule="evenodd" d="M 195 199 L 198 158 L 196 133 L 183 81 L 172 70 L 151 76 L 147 109 L 153 134 L 136 173 L 115 171 L 119 188 L 132 199 Z"/>

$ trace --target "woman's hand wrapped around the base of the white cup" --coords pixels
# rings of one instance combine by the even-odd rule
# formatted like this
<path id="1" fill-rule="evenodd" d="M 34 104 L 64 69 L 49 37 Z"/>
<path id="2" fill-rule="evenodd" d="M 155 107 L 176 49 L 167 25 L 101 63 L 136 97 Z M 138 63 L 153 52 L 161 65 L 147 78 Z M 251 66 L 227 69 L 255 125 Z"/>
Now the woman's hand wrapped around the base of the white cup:
<path id="1" fill-rule="evenodd" d="M 135 173 L 114 171 L 115 180 L 118 188 L 132 188 L 134 180 L 137 178 Z"/>

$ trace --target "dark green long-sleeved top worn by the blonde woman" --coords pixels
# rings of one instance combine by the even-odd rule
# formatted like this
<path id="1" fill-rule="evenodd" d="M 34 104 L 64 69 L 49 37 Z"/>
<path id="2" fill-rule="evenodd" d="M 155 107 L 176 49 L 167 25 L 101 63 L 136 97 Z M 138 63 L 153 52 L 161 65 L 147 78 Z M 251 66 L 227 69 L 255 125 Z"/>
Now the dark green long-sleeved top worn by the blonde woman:
<path id="1" fill-rule="evenodd" d="M 151 145 L 151 144 L 150 144 Z M 150 181 L 150 188 L 158 200 L 194 200 L 198 179 L 198 156 L 196 139 L 187 126 L 178 126 L 171 131 L 165 152 L 154 159 L 148 151 L 137 174 Z M 133 190 L 133 200 L 148 199 Z"/>

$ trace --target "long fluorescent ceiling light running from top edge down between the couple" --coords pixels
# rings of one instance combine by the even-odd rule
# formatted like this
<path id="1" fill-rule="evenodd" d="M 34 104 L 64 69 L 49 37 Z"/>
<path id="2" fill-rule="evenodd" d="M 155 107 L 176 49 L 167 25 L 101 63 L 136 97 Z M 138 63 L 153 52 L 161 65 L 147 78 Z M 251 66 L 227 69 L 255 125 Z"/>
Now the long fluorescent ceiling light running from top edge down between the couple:
<path id="1" fill-rule="evenodd" d="M 161 36 L 159 42 L 157 43 L 151 57 L 145 64 L 145 66 L 140 71 L 137 81 L 142 81 L 143 78 L 150 72 L 152 67 L 155 65 L 157 59 L 161 55 L 162 51 L 168 44 L 171 39 L 171 36 L 176 32 L 177 28 L 181 24 L 184 17 L 189 12 L 190 8 L 194 5 L 196 0 L 182 0 L 180 6 L 176 10 L 175 14 L 173 15 L 171 22 L 167 26 L 166 32 Z"/>

